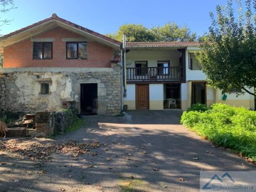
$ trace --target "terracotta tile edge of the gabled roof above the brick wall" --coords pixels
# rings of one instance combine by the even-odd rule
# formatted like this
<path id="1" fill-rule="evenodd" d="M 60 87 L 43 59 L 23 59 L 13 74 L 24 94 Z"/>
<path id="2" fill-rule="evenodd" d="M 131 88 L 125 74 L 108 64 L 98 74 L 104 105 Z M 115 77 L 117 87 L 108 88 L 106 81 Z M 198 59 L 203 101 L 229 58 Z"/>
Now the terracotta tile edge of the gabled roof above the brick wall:
<path id="1" fill-rule="evenodd" d="M 75 24 L 75 23 L 72 23 L 72 22 L 67 21 L 67 20 L 65 20 L 65 19 L 63 19 L 63 18 L 60 18 L 60 17 L 58 17 L 56 14 L 53 14 L 50 18 L 46 18 L 46 19 L 44 19 L 44 20 L 42 20 L 42 21 L 38 21 L 37 23 L 33 23 L 33 24 L 30 25 L 30 26 L 26 26 L 26 27 L 21 28 L 21 29 L 19 29 L 19 30 L 17 30 L 17 31 L 14 31 L 14 32 L 12 32 L 12 33 L 9 33 L 9 34 L 7 34 L 7 35 L 5 35 L 5 36 L 2 36 L 1 39 L 8 38 L 9 36 L 14 36 L 14 35 L 17 34 L 17 33 L 21 33 L 21 32 L 26 31 L 26 30 L 28 30 L 28 29 L 34 28 L 34 27 L 36 27 L 36 26 L 40 26 L 41 24 L 46 23 L 46 22 L 51 21 L 51 20 L 60 21 L 60 22 L 62 22 L 62 23 L 67 24 L 68 26 L 72 26 L 72 27 L 78 28 L 78 29 L 80 29 L 80 30 L 82 30 L 82 31 L 85 31 L 85 32 L 87 32 L 87 33 L 90 33 L 90 34 L 92 34 L 93 36 L 97 36 L 97 37 L 99 37 L 99 38 L 105 39 L 106 41 L 110 41 L 110 42 L 112 42 L 112 43 L 116 43 L 116 44 L 118 44 L 118 45 L 121 45 L 121 42 L 119 42 L 119 41 L 116 41 L 116 40 L 114 40 L 114 39 L 112 39 L 112 38 L 109 38 L 109 37 L 107 37 L 107 36 L 103 36 L 103 35 L 100 34 L 100 33 L 97 33 L 97 32 L 95 32 L 95 31 L 92 31 L 92 30 L 88 29 L 88 28 L 84 28 L 84 27 L 79 26 L 79 25 L 77 25 L 77 24 Z"/>

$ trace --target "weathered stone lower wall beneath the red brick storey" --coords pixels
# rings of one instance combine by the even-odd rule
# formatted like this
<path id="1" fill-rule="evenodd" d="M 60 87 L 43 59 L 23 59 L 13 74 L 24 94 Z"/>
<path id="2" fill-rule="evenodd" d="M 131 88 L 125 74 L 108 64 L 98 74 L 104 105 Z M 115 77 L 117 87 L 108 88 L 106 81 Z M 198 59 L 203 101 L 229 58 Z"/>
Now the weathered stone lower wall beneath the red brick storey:
<path id="1" fill-rule="evenodd" d="M 29 72 L 28 72 L 29 71 Z M 4 81 L 4 105 L 1 110 L 38 112 L 58 111 L 63 101 L 75 101 L 80 110 L 80 84 L 97 83 L 97 114 L 120 111 L 120 68 L 6 68 L 0 71 Z M 40 83 L 50 80 L 50 94 L 41 95 Z"/>

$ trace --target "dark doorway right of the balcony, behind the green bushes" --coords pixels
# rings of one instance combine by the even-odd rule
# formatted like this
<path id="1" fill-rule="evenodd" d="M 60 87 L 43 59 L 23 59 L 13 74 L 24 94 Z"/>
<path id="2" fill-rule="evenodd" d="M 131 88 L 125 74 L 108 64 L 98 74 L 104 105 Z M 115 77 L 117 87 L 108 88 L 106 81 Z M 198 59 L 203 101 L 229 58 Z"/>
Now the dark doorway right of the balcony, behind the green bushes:
<path id="1" fill-rule="evenodd" d="M 191 105 L 198 102 L 206 104 L 206 82 L 192 82 Z"/>

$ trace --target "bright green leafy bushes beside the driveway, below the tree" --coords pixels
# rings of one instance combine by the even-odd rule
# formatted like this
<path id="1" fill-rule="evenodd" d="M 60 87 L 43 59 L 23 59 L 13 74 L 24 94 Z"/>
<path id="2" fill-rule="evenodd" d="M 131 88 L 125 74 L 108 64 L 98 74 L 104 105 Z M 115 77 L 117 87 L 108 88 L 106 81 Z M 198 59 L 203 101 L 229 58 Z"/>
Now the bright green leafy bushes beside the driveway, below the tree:
<path id="1" fill-rule="evenodd" d="M 256 160 L 256 112 L 214 104 L 205 112 L 183 112 L 181 123 L 217 146 Z"/>

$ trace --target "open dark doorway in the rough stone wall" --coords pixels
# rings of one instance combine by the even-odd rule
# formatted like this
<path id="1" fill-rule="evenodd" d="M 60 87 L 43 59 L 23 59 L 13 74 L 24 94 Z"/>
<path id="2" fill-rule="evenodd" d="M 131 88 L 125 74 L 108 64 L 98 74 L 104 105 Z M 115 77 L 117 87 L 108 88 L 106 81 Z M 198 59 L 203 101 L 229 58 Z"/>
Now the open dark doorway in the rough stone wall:
<path id="1" fill-rule="evenodd" d="M 97 114 L 97 83 L 80 84 L 80 109 L 82 114 Z"/>

